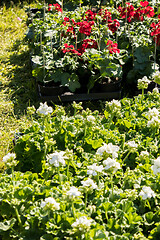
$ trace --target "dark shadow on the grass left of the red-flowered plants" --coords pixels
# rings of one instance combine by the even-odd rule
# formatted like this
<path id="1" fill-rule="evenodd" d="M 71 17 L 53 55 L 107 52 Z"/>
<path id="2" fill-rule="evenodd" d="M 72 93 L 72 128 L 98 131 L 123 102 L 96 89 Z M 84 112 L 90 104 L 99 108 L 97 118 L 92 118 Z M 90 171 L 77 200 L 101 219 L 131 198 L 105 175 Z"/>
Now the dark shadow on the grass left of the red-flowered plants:
<path id="1" fill-rule="evenodd" d="M 30 52 L 24 44 L 24 39 L 15 41 L 9 50 L 13 54 L 7 60 L 11 67 L 7 69 L 6 77 L 11 79 L 8 87 L 12 93 L 11 100 L 16 115 L 24 114 L 25 109 L 29 105 L 36 105 L 38 100 L 35 80 L 32 77 Z"/>

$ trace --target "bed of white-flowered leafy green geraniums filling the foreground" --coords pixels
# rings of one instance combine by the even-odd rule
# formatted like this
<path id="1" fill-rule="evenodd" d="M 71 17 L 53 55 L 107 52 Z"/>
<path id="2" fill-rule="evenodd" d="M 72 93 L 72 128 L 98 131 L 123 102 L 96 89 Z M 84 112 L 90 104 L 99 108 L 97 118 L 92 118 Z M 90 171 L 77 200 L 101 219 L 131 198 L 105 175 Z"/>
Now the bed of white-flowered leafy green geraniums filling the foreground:
<path id="1" fill-rule="evenodd" d="M 103 114 L 41 103 L 3 161 L 2 239 L 157 239 L 160 95 Z"/>

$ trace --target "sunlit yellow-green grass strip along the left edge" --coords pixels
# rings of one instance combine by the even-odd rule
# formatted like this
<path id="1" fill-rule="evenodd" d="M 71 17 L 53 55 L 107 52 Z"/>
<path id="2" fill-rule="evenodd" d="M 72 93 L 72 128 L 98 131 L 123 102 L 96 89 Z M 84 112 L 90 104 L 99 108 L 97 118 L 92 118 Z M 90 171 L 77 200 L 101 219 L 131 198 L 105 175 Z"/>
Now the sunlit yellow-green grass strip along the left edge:
<path id="1" fill-rule="evenodd" d="M 14 133 L 30 124 L 27 107 L 38 102 L 24 35 L 24 5 L 0 7 L 0 170 L 3 156 L 13 148 Z"/>

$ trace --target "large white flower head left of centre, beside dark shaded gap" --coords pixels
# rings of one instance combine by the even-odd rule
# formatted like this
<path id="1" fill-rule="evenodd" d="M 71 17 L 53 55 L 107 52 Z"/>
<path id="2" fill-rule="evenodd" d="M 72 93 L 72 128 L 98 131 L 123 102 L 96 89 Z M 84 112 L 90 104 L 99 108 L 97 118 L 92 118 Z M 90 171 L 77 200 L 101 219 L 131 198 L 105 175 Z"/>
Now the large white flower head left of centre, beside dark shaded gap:
<path id="1" fill-rule="evenodd" d="M 47 160 L 51 165 L 54 165 L 55 167 L 65 165 L 64 154 L 65 154 L 64 151 L 48 154 Z"/>

